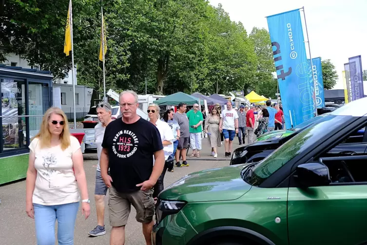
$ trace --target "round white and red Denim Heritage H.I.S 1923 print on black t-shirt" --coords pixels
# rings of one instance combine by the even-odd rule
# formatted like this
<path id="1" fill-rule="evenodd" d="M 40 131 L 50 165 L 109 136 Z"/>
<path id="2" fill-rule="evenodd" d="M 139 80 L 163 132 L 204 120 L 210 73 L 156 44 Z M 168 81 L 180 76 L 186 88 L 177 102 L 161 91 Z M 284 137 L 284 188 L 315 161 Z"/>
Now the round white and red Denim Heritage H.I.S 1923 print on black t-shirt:
<path id="1" fill-rule="evenodd" d="M 121 130 L 116 134 L 114 142 L 112 150 L 115 155 L 119 158 L 128 158 L 136 152 L 139 140 L 130 130 Z"/>

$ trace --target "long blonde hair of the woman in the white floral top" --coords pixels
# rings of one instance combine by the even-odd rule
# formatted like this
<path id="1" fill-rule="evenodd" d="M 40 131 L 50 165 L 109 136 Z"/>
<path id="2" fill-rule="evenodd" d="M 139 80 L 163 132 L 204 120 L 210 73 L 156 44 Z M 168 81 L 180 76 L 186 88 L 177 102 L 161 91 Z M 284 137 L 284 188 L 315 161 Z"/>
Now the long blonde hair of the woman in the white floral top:
<path id="1" fill-rule="evenodd" d="M 47 148 L 51 146 L 51 133 L 48 129 L 48 122 L 50 121 L 50 117 L 52 114 L 57 114 L 62 117 L 64 121 L 64 128 L 60 134 L 60 141 L 61 141 L 61 149 L 65 150 L 70 146 L 70 132 L 69 132 L 69 122 L 65 115 L 65 113 L 58 107 L 51 107 L 46 111 L 42 118 L 41 128 L 39 129 L 38 134 L 32 139 L 35 138 L 39 139 L 39 147 L 40 148 Z"/>

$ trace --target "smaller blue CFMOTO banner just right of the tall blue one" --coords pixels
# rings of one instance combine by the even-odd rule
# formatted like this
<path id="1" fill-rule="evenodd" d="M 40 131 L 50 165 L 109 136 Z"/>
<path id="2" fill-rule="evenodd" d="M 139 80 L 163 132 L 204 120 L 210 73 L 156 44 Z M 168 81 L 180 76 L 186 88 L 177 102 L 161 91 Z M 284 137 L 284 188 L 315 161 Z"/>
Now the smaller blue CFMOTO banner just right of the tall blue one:
<path id="1" fill-rule="evenodd" d="M 311 66 L 311 60 L 309 61 L 309 66 Z M 322 77 L 322 67 L 321 67 L 321 58 L 313 58 L 312 59 L 312 76 L 315 81 L 315 96 L 316 96 L 316 105 L 317 108 L 325 107 L 325 98 L 324 98 L 324 81 Z M 313 80 L 311 80 L 311 90 L 313 88 Z"/>

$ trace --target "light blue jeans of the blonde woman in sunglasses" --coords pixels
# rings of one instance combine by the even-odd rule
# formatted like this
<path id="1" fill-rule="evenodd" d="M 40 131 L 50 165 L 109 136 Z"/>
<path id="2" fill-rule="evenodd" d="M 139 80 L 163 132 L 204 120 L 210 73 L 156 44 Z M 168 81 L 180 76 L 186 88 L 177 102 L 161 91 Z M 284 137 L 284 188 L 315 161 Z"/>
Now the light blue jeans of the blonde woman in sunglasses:
<path id="1" fill-rule="evenodd" d="M 45 206 L 33 204 L 38 245 L 55 244 L 55 222 L 58 220 L 58 244 L 74 245 L 74 228 L 79 203 Z"/>

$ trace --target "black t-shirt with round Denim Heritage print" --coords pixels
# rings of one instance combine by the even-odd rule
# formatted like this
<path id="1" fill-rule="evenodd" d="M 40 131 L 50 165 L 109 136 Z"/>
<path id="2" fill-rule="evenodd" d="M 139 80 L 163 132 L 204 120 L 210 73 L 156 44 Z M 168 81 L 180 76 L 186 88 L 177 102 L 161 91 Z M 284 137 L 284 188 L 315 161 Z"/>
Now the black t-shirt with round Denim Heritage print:
<path id="1" fill-rule="evenodd" d="M 131 124 L 122 119 L 110 122 L 102 147 L 108 149 L 112 185 L 119 192 L 139 190 L 136 184 L 152 174 L 154 152 L 163 149 L 158 129 L 141 118 Z"/>

